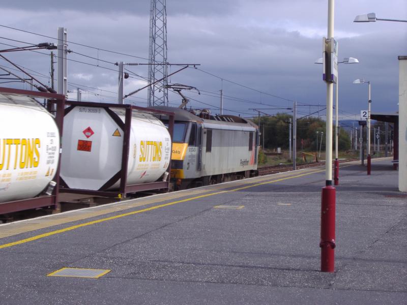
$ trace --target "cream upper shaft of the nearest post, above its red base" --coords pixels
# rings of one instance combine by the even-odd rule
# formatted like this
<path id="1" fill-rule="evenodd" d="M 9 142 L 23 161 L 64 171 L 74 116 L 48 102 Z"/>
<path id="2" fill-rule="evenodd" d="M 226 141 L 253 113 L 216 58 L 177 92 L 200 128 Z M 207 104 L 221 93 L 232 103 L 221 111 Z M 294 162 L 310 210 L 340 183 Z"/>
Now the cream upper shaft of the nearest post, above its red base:
<path id="1" fill-rule="evenodd" d="M 328 1 L 328 39 L 334 38 L 334 0 Z M 332 43 L 333 44 L 333 43 Z M 331 54 L 328 54 L 330 56 Z M 325 157 L 325 180 L 326 186 L 332 186 L 332 108 L 333 108 L 332 82 L 327 82 L 327 124 L 326 124 L 326 157 Z"/>

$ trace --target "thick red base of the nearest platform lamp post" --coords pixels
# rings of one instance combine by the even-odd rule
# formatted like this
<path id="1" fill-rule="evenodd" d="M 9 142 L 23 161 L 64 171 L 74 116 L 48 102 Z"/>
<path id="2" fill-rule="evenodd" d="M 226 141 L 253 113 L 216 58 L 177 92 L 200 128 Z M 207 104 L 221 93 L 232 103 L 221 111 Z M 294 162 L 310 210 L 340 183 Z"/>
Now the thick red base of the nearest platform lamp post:
<path id="1" fill-rule="evenodd" d="M 335 271 L 335 199 L 333 186 L 322 188 L 321 200 L 321 271 Z"/>

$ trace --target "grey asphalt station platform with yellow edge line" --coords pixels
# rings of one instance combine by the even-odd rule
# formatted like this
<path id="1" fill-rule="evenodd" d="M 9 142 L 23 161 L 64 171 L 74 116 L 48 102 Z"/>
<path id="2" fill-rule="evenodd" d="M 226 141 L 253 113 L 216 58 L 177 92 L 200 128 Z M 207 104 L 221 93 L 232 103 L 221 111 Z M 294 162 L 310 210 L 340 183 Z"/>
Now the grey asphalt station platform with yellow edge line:
<path id="1" fill-rule="evenodd" d="M 307 168 L 0 225 L 1 302 L 405 304 L 397 171 L 341 164 L 339 183 L 335 273 L 319 271 L 325 168 Z"/>

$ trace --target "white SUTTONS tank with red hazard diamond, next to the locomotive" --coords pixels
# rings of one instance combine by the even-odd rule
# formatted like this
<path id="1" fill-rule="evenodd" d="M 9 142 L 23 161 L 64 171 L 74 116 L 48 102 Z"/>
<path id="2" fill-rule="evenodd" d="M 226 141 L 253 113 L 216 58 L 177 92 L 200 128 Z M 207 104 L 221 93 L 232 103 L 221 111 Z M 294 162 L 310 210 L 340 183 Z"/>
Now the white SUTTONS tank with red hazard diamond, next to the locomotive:
<path id="1" fill-rule="evenodd" d="M 71 106 L 66 110 L 61 178 L 69 188 L 119 188 L 125 110 L 111 109 Z M 127 184 L 160 178 L 170 162 L 170 147 L 170 135 L 161 121 L 152 114 L 133 110 Z"/>

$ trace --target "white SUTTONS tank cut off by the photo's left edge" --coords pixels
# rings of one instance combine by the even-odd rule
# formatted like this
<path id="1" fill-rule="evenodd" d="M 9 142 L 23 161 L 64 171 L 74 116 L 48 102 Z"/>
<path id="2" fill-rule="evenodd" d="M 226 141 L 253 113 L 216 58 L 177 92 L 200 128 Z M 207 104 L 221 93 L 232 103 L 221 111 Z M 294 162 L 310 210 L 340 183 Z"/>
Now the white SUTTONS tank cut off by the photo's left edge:
<path id="1" fill-rule="evenodd" d="M 32 98 L 0 95 L 0 203 L 39 195 L 53 179 L 60 135 Z"/>

